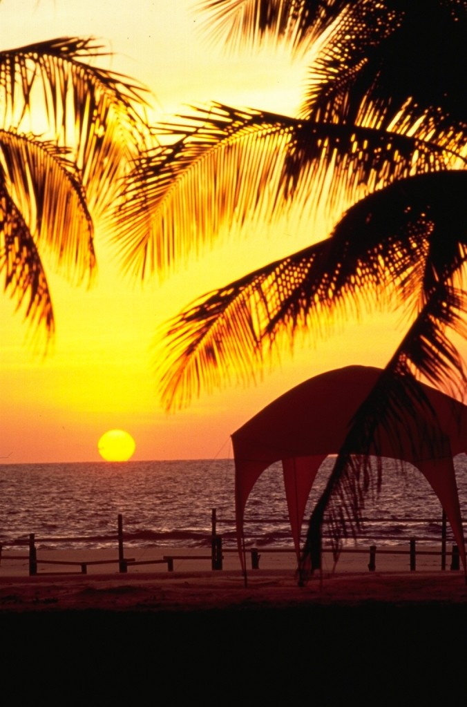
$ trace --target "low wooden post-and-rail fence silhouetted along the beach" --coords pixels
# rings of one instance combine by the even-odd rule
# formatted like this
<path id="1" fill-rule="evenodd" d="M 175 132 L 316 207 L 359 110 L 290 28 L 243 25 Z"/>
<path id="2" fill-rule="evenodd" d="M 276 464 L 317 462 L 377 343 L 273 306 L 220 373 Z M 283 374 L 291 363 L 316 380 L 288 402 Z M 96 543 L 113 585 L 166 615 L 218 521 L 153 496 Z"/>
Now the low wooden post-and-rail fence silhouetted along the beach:
<path id="1" fill-rule="evenodd" d="M 395 522 L 395 520 L 403 520 L 403 519 L 388 519 L 388 522 Z M 420 522 L 432 522 L 432 519 L 418 519 Z M 383 522 L 383 520 L 379 519 L 378 522 Z M 414 519 L 411 519 L 411 522 L 415 522 Z M 113 539 L 110 537 L 109 539 Z M 163 555 L 159 559 L 150 559 L 150 560 L 136 560 L 132 557 L 126 557 L 125 556 L 125 547 L 124 547 L 124 532 L 123 532 L 123 518 L 122 515 L 119 514 L 117 517 L 117 534 L 115 534 L 115 542 L 117 544 L 117 556 L 114 557 L 113 559 L 102 559 L 102 560 L 88 560 L 88 561 L 73 561 L 73 560 L 53 560 L 49 558 L 40 558 L 38 556 L 38 549 L 36 547 L 36 542 L 37 539 L 35 537 L 34 533 L 30 533 L 28 540 L 23 541 L 24 544 L 28 545 L 28 555 L 12 555 L 8 554 L 8 561 L 28 561 L 28 566 L 29 566 L 29 574 L 31 576 L 37 575 L 39 572 L 39 567 L 40 566 L 62 566 L 62 567 L 73 567 L 76 568 L 74 571 L 77 571 L 78 573 L 81 574 L 87 574 L 88 572 L 88 566 L 98 566 L 98 565 L 103 565 L 103 566 L 108 566 L 108 565 L 117 565 L 118 572 L 120 573 L 127 573 L 128 568 L 132 567 L 137 567 L 137 566 L 151 566 L 151 565 L 156 565 L 156 564 L 165 564 L 167 567 L 168 572 L 173 572 L 173 562 L 174 560 L 196 560 L 196 561 L 209 561 L 211 563 L 211 568 L 214 571 L 217 570 L 222 570 L 223 569 L 223 560 L 224 560 L 224 554 L 225 553 L 236 553 L 236 549 L 223 549 L 222 547 L 222 537 L 220 534 L 217 533 L 217 519 L 216 519 L 216 509 L 212 509 L 212 533 L 210 535 L 211 539 L 211 552 L 209 554 L 205 555 L 186 555 L 186 554 L 170 554 L 170 555 Z M 385 539 L 391 539 L 386 536 Z M 392 538 L 396 539 L 396 538 Z M 399 539 L 399 538 L 397 538 Z M 56 540 L 56 539 L 54 539 Z M 74 538 L 74 542 L 79 542 L 79 539 Z M 82 538 L 82 542 L 89 542 L 89 538 Z M 42 538 L 41 542 L 46 542 L 47 539 Z M 423 555 L 432 555 L 432 556 L 439 556 L 440 558 L 440 568 L 442 570 L 446 569 L 446 561 L 448 558 L 451 559 L 450 562 L 450 569 L 451 570 L 459 570 L 460 569 L 460 562 L 459 562 L 459 548 L 457 547 L 456 544 L 452 545 L 451 551 L 449 551 L 446 547 L 446 518 L 443 516 L 442 520 L 442 538 L 441 538 L 441 549 L 439 551 L 437 550 L 424 550 L 420 549 L 420 547 L 417 545 L 417 543 L 420 541 L 417 541 L 415 538 L 410 538 L 408 542 L 408 549 L 400 549 L 398 548 L 391 548 L 391 547 L 377 547 L 376 544 L 371 544 L 369 547 L 362 549 L 362 548 L 343 548 L 341 549 L 341 554 L 367 554 L 369 561 L 368 561 L 368 569 L 370 572 L 376 571 L 376 560 L 379 556 L 381 555 L 407 555 L 408 560 L 409 560 L 409 568 L 410 571 L 415 571 L 417 568 L 417 556 L 423 556 Z M 432 541 L 431 541 L 432 542 Z M 21 544 L 21 543 L 20 543 Z M 0 563 L 1 563 L 1 557 L 2 557 L 2 550 L 3 546 L 0 543 Z M 255 569 L 260 569 L 260 558 L 261 558 L 261 552 L 263 554 L 275 554 L 275 553 L 287 553 L 287 554 L 294 554 L 295 551 L 292 547 L 282 547 L 282 548 L 273 548 L 273 547 L 265 547 L 261 551 L 258 549 L 258 547 L 250 547 L 246 553 L 250 557 L 250 565 L 253 570 Z M 330 554 L 332 551 L 328 548 L 323 549 L 323 554 Z M 71 571 L 67 571 L 66 573 L 71 573 Z M 45 572 L 41 572 L 40 574 L 45 574 Z M 48 572 L 48 574 L 57 574 L 57 571 L 52 571 Z"/>

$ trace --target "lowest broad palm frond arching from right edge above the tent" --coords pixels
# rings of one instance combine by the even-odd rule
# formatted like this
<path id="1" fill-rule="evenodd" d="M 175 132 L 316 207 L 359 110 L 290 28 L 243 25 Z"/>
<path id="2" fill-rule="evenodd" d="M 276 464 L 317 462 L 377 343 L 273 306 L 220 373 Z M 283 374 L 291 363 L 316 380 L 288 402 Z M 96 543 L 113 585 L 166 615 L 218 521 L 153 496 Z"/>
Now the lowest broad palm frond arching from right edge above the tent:
<path id="1" fill-rule="evenodd" d="M 304 329 L 326 336 L 333 321 L 370 310 L 375 301 L 383 308 L 396 294 L 416 314 L 434 284 L 451 268 L 461 268 L 466 186 L 467 173 L 454 171 L 396 182 L 352 207 L 328 240 L 209 293 L 181 312 L 165 342 L 167 407 L 183 405 L 229 377 L 251 379 L 280 334 L 289 341 Z M 414 351 L 414 365 L 427 378 L 429 370 L 439 377 L 451 361 L 446 341 L 440 354 L 440 345 L 432 356 L 428 348 L 417 356 Z"/>

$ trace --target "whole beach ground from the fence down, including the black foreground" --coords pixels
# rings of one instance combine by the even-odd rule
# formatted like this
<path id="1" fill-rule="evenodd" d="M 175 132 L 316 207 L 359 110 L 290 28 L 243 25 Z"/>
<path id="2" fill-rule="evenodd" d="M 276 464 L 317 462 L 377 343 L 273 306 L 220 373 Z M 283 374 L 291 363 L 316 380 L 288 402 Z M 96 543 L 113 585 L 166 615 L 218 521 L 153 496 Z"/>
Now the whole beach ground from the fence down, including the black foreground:
<path id="1" fill-rule="evenodd" d="M 335 573 L 325 570 L 299 587 L 293 556 L 262 551 L 245 586 L 233 553 L 224 557 L 225 569 L 212 571 L 199 559 L 203 551 L 171 552 L 190 559 L 174 561 L 173 572 L 158 564 L 119 573 L 113 564 L 90 565 L 83 575 L 79 566 L 60 573 L 60 566 L 40 565 L 30 577 L 27 562 L 8 561 L 12 553 L 4 551 L 1 665 L 4 674 L 21 665 L 28 675 L 16 697 L 32 684 L 50 704 L 63 704 L 72 689 L 88 704 L 139 705 L 150 694 L 340 707 L 443 704 L 463 691 L 462 571 L 410 572 L 407 556 L 394 555 L 381 556 L 389 569 L 369 572 L 367 556 L 355 554 L 343 556 Z M 170 553 L 154 549 L 154 557 L 162 554 Z M 96 561 L 108 552 L 41 556 Z M 143 556 L 150 559 L 148 551 Z"/>

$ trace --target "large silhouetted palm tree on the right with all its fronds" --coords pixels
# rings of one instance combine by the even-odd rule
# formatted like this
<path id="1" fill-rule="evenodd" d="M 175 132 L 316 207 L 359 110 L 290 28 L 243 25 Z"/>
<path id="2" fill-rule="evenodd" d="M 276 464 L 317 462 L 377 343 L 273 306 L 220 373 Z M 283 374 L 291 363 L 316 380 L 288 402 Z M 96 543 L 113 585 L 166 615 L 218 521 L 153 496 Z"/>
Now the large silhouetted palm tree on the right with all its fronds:
<path id="1" fill-rule="evenodd" d="M 253 230 L 255 219 L 296 209 L 308 218 L 327 209 L 336 225 L 330 238 L 208 293 L 175 318 L 163 376 L 168 407 L 232 372 L 248 380 L 281 335 L 326 332 L 349 310 L 398 306 L 409 321 L 313 512 L 305 569 L 310 559 L 318 565 L 324 514 L 337 554 L 366 493 L 381 483 L 366 455 L 347 453 L 352 440 L 364 450 L 377 422 L 391 426 L 398 406 L 410 410 L 417 377 L 450 392 L 464 388 L 450 334 L 466 334 L 467 2 L 201 6 L 217 40 L 238 46 L 272 37 L 309 51 L 303 105 L 289 117 L 214 103 L 161 126 L 165 143 L 127 182 L 125 266 L 170 269 L 224 223 Z M 395 372 L 406 381 L 397 395 L 388 386 Z"/>

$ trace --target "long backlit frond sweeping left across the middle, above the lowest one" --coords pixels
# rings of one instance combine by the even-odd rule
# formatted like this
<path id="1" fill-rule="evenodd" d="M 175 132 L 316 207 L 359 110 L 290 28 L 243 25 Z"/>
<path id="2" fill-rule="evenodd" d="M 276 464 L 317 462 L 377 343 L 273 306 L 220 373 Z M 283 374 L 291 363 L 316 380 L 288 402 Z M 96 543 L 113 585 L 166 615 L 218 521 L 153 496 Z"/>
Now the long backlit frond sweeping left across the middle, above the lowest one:
<path id="1" fill-rule="evenodd" d="M 323 204 L 339 213 L 381 182 L 457 158 L 407 135 L 217 103 L 159 132 L 171 142 L 136 160 L 116 214 L 122 263 L 139 276 L 170 270 L 224 226 L 252 229 Z"/>

